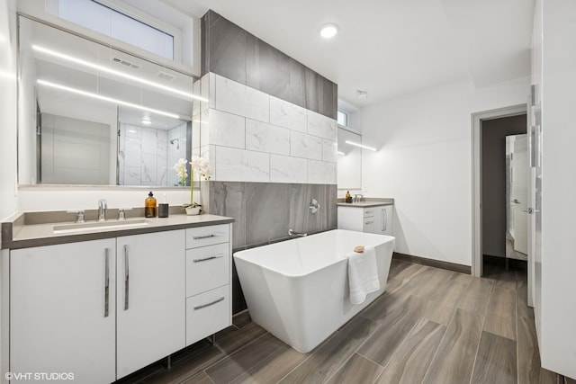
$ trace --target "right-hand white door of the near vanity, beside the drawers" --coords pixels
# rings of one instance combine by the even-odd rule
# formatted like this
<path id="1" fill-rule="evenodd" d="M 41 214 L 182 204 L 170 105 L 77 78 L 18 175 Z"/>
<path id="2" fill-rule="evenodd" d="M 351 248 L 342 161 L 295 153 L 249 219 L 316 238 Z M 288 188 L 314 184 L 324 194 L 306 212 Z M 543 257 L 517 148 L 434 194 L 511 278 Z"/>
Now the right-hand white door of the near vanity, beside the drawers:
<path id="1" fill-rule="evenodd" d="M 184 229 L 118 237 L 118 379 L 185 346 Z"/>

